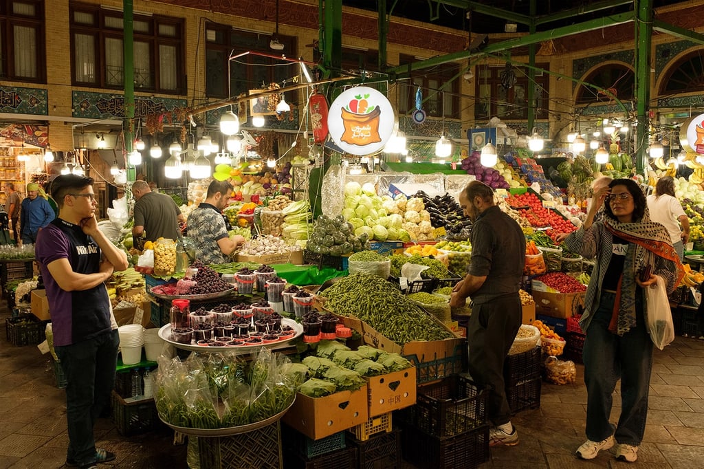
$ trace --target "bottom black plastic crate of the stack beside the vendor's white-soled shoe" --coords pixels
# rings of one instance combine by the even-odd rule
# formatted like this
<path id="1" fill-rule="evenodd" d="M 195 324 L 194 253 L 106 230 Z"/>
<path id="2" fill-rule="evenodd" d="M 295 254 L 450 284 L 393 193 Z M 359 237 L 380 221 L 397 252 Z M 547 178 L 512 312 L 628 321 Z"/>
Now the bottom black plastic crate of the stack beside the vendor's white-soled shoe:
<path id="1" fill-rule="evenodd" d="M 410 425 L 401 428 L 403 459 L 422 469 L 470 469 L 489 461 L 489 425 L 439 438 Z"/>

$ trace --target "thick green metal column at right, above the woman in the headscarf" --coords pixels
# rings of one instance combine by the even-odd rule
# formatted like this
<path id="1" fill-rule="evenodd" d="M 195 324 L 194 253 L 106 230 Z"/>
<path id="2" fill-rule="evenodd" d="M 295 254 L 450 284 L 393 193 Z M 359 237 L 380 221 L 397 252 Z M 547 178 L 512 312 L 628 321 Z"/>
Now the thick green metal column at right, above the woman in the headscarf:
<path id="1" fill-rule="evenodd" d="M 653 36 L 653 0 L 635 0 L 636 13 L 636 171 L 648 168 L 648 104 L 650 102 L 650 49 Z M 647 175 L 646 175 L 647 176 Z"/>

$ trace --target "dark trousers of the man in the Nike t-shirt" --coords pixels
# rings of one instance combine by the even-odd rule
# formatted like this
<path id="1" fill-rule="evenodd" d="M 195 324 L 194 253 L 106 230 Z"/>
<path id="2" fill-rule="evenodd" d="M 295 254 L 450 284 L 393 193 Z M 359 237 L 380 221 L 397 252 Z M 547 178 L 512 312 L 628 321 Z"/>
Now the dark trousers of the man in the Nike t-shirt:
<path id="1" fill-rule="evenodd" d="M 95 461 L 93 427 L 115 388 L 120 336 L 117 330 L 71 345 L 57 346 L 66 375 L 66 459 L 78 465 Z"/>

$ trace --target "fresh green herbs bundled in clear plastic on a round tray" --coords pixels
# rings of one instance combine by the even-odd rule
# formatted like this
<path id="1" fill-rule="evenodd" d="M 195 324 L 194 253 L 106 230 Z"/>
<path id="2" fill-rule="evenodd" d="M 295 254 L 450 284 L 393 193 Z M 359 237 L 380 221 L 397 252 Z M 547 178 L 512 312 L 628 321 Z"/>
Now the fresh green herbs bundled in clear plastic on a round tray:
<path id="1" fill-rule="evenodd" d="M 288 408 L 306 371 L 268 349 L 250 363 L 236 354 L 191 354 L 184 362 L 160 358 L 156 408 L 177 427 L 248 425 Z"/>

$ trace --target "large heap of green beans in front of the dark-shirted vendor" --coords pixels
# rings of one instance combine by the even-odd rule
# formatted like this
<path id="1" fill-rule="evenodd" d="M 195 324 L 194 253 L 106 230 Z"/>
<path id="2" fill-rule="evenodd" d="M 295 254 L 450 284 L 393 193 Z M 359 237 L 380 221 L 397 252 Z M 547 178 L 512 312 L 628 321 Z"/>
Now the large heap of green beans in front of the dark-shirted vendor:
<path id="1" fill-rule="evenodd" d="M 377 275 L 353 273 L 325 289 L 322 296 L 333 313 L 359 318 L 398 345 L 453 337 L 394 284 Z"/>

